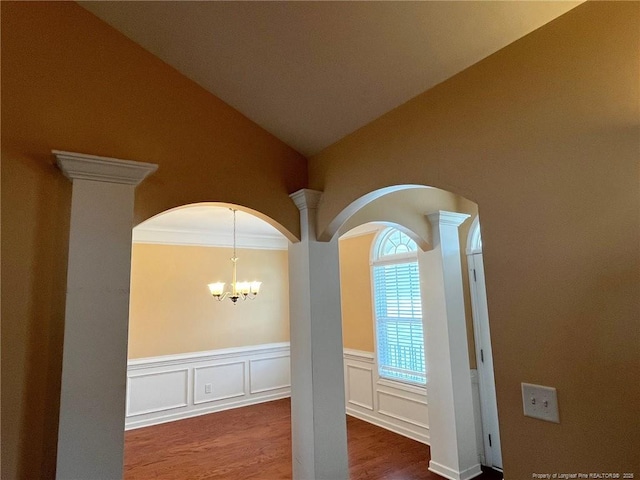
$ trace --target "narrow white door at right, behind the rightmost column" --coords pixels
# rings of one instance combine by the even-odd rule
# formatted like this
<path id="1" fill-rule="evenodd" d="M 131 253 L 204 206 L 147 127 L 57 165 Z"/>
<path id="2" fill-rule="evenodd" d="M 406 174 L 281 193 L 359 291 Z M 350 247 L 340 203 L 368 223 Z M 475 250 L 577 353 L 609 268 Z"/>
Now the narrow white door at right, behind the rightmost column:
<path id="1" fill-rule="evenodd" d="M 473 329 L 476 345 L 476 360 L 480 383 L 480 408 L 482 411 L 482 431 L 485 464 L 502 469 L 500 432 L 498 430 L 498 406 L 493 375 L 493 355 L 489 332 L 489 311 L 484 281 L 482 253 L 467 256 L 469 265 L 469 285 L 473 309 Z"/>

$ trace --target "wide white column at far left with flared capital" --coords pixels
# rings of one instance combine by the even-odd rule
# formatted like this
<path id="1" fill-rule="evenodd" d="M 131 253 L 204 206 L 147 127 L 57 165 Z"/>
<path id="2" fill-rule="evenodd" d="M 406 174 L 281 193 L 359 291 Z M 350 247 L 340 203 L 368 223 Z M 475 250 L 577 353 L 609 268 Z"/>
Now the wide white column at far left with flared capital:
<path id="1" fill-rule="evenodd" d="M 134 189 L 157 165 L 53 151 L 73 182 L 56 478 L 122 478 Z"/>

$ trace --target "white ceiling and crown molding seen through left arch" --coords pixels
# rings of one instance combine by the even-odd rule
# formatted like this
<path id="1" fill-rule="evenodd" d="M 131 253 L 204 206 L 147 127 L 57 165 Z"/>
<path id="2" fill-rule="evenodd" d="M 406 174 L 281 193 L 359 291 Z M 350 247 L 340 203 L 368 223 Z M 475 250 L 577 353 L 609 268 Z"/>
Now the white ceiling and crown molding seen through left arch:
<path id="1" fill-rule="evenodd" d="M 289 241 L 278 230 L 250 213 L 236 212 L 239 248 L 283 250 Z M 233 213 L 227 207 L 194 205 L 176 208 L 133 229 L 134 243 L 171 245 L 233 245 Z"/>

